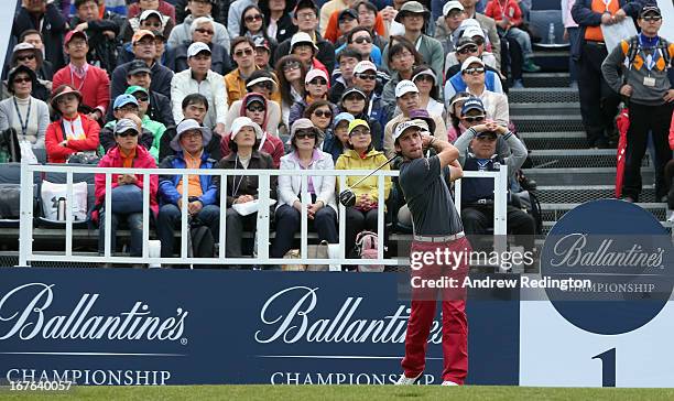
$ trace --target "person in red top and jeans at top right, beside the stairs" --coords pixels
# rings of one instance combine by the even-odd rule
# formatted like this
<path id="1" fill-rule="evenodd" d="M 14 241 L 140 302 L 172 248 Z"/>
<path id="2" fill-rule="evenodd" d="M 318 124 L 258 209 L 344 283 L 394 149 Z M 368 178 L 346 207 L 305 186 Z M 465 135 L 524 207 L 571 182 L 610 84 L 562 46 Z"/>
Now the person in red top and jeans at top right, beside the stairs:
<path id="1" fill-rule="evenodd" d="M 499 36 L 515 40 L 522 47 L 523 71 L 528 73 L 541 71 L 541 67 L 533 62 L 533 50 L 529 33 L 518 28 L 522 25 L 522 10 L 517 0 L 490 0 L 485 9 L 485 15 L 494 19 Z"/>

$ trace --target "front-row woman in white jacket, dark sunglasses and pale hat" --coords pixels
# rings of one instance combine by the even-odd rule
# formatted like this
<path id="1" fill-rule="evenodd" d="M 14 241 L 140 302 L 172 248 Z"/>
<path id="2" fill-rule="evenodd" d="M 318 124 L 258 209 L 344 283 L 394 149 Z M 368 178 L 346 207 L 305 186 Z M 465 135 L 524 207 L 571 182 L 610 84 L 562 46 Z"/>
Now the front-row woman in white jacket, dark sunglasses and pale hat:
<path id="1" fill-rule="evenodd" d="M 291 130 L 292 152 L 281 158 L 281 170 L 334 170 L 329 153 L 320 150 L 324 131 L 306 118 L 296 120 Z M 301 228 L 302 206 L 306 207 L 308 229 L 318 234 L 319 241 L 339 242 L 337 232 L 337 203 L 334 176 L 309 176 L 306 188 L 302 177 L 279 176 L 279 205 L 274 213 L 276 237 L 271 247 L 272 258 L 283 258 L 292 248 L 295 232 Z M 306 193 L 308 198 L 303 198 Z"/>

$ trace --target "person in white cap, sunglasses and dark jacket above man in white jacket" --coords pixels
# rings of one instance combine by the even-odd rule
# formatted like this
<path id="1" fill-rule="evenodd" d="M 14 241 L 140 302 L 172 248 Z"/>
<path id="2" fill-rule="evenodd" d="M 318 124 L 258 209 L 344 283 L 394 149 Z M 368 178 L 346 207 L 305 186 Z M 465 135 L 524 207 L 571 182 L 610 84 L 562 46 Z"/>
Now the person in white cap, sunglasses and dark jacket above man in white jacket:
<path id="1" fill-rule="evenodd" d="M 202 42 L 206 43 L 210 48 L 210 69 L 225 75 L 232 68 L 229 48 L 225 48 L 221 45 L 213 42 L 214 24 L 213 20 L 208 17 L 199 17 L 192 22 L 192 42 L 184 42 L 172 50 L 173 57 L 166 59 L 166 67 L 171 68 L 174 73 L 180 73 L 189 68 L 187 63 L 187 48 L 192 43 Z"/>

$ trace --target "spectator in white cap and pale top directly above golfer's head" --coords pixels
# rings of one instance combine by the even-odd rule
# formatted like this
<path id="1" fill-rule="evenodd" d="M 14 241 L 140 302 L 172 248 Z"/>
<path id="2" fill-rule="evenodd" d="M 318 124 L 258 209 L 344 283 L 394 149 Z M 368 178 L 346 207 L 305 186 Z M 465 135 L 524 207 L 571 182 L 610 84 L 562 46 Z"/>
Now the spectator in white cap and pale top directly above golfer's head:
<path id="1" fill-rule="evenodd" d="M 398 83 L 395 86 L 395 99 L 400 115 L 392 118 L 384 128 L 383 149 L 387 158 L 392 158 L 395 155 L 395 145 L 393 143 L 393 131 L 395 126 L 399 122 L 412 118 L 411 116 L 413 111 L 418 111 L 422 109 L 418 88 L 412 80 L 405 79 Z M 428 116 L 427 112 L 426 116 Z M 443 118 L 439 115 L 430 115 L 427 118 L 432 119 L 434 124 L 434 127 L 431 129 L 431 133 L 434 137 L 446 140 L 447 129 Z"/>

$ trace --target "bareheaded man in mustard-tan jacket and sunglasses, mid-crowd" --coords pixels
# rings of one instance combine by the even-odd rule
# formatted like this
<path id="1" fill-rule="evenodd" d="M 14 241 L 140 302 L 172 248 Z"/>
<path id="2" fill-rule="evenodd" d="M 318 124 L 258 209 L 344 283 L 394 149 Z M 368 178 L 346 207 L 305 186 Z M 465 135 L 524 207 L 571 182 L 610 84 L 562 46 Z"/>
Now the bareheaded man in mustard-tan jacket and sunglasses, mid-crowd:
<path id="1" fill-rule="evenodd" d="M 225 86 L 227 87 L 227 98 L 229 105 L 241 99 L 246 90 L 246 79 L 259 69 L 256 65 L 256 44 L 248 36 L 238 36 L 231 42 L 231 57 L 237 67 L 225 75 Z"/>

